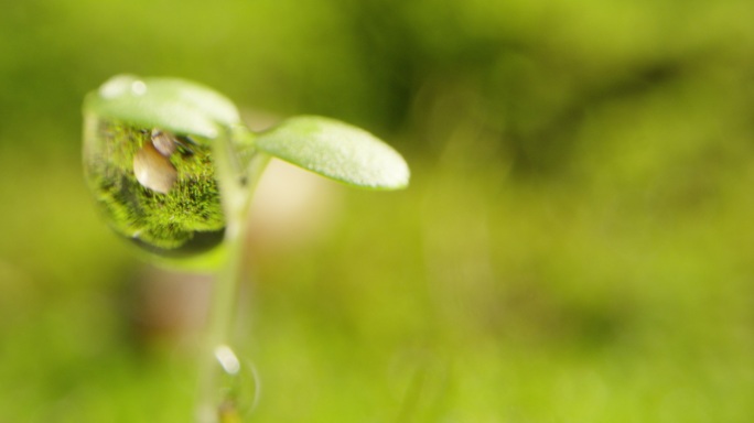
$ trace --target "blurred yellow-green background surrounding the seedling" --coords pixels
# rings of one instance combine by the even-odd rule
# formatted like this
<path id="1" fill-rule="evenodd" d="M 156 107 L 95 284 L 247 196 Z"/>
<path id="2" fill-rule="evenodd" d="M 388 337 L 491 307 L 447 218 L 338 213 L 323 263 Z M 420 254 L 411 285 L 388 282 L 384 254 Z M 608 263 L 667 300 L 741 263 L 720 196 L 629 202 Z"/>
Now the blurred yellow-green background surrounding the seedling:
<path id="1" fill-rule="evenodd" d="M 1 9 L 0 422 L 191 420 L 209 282 L 137 260 L 82 176 L 82 99 L 125 72 L 412 167 L 268 189 L 309 203 L 251 228 L 249 421 L 754 420 L 751 1 Z"/>

